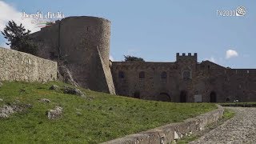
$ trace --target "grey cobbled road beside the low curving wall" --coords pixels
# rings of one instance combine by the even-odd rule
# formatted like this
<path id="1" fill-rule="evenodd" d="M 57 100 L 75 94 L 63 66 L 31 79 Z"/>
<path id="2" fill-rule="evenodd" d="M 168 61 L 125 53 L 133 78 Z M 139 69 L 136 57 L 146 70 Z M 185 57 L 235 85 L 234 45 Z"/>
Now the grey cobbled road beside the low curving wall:
<path id="1" fill-rule="evenodd" d="M 256 144 L 256 108 L 230 107 L 236 112 L 234 118 L 211 130 L 191 144 Z"/>

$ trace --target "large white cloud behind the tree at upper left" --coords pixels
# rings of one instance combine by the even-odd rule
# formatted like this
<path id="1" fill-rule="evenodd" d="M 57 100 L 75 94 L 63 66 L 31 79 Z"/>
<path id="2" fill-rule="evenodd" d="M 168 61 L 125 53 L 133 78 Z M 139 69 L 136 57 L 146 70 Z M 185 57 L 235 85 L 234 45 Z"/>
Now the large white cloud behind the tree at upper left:
<path id="1" fill-rule="evenodd" d="M 35 23 L 32 23 L 31 18 L 22 19 L 22 12 L 16 10 L 13 6 L 10 6 L 6 2 L 0 1 L 0 30 L 2 31 L 6 27 L 6 23 L 10 20 L 14 20 L 17 24 L 22 23 L 27 30 L 35 32 L 40 30 Z"/>

